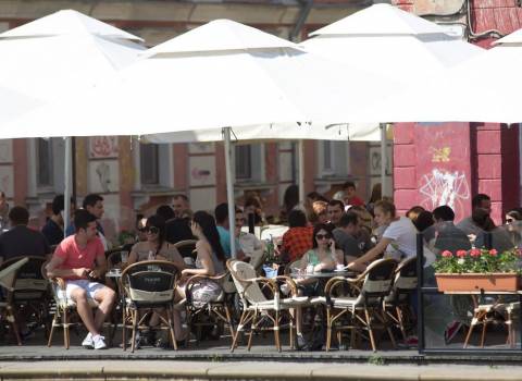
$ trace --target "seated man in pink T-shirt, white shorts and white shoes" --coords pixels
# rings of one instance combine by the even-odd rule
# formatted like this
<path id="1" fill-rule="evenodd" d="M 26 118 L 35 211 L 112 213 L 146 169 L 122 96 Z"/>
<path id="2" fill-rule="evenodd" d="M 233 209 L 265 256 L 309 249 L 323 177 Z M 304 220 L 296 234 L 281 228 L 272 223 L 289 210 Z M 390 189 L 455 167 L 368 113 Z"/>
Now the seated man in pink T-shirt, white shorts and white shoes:
<path id="1" fill-rule="evenodd" d="M 87 210 L 77 210 L 74 216 L 76 233 L 61 242 L 46 270 L 49 278 L 60 276 L 66 281 L 65 295 L 76 303 L 78 315 L 89 331 L 82 345 L 104 349 L 107 344 L 100 331 L 112 309 L 115 293 L 90 280 L 105 272 L 105 254 L 97 236 L 96 220 Z M 99 304 L 96 316 L 92 316 L 89 298 Z"/>

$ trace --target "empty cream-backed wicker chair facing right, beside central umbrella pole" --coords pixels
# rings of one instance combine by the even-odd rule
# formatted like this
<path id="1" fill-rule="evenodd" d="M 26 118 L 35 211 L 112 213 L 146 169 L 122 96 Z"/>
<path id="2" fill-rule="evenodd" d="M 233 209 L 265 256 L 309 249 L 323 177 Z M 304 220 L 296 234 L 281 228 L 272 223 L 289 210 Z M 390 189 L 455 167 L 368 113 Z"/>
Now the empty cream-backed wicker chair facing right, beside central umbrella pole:
<path id="1" fill-rule="evenodd" d="M 282 316 L 287 315 L 290 331 L 290 347 L 294 347 L 294 330 L 296 327 L 295 314 L 293 310 L 298 307 L 310 306 L 310 299 L 306 296 L 297 296 L 296 283 L 288 276 L 277 276 L 266 279 L 257 276 L 256 269 L 250 265 L 239 260 L 228 260 L 226 262 L 231 271 L 237 292 L 241 299 L 241 317 L 236 329 L 234 342 L 231 351 L 234 352 L 240 332 L 250 323 L 250 334 L 248 337 L 248 351 L 251 348 L 253 331 L 270 330 L 274 332 L 275 346 L 281 352 L 279 329 Z M 291 290 L 291 296 L 282 298 L 277 281 L 284 282 Z M 270 290 L 271 297 L 265 296 L 263 287 Z M 264 318 L 264 319 L 263 319 Z M 270 325 L 261 325 L 260 322 L 269 321 Z"/>

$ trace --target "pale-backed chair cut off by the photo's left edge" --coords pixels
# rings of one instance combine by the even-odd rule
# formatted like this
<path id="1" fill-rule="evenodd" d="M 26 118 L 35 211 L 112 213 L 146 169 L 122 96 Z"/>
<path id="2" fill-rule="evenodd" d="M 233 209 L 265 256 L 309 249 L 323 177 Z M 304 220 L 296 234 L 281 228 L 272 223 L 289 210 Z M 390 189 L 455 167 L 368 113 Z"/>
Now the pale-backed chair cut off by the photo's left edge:
<path id="1" fill-rule="evenodd" d="M 28 262 L 28 258 L 22 258 L 11 265 L 2 266 L 0 269 L 0 286 L 3 288 L 4 298 L 0 302 L 1 319 L 7 320 L 12 329 L 12 332 L 16 339 L 16 343 L 22 345 L 20 337 L 18 325 L 16 322 L 16 314 L 14 312 L 14 291 L 16 282 L 16 273 L 20 269 Z"/>

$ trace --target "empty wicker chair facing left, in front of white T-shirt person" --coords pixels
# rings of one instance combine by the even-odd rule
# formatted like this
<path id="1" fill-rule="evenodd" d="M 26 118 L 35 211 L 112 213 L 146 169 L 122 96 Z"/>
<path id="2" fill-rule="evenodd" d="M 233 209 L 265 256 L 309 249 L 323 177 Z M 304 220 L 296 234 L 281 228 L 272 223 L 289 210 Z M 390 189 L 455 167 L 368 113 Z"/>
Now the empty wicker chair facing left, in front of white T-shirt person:
<path id="1" fill-rule="evenodd" d="M 332 345 L 332 333 L 337 331 L 340 345 L 340 331 L 351 331 L 353 344 L 355 334 L 361 330 L 368 331 L 373 352 L 376 352 L 374 329 L 384 327 L 388 332 L 394 347 L 395 337 L 386 318 L 384 299 L 389 295 L 395 276 L 397 261 L 394 259 L 380 259 L 371 263 L 366 270 L 356 279 L 335 276 L 325 286 L 326 295 L 326 351 Z M 343 290 L 338 296 L 339 287 L 348 285 L 348 295 Z M 339 324 L 348 318 L 348 325 Z"/>

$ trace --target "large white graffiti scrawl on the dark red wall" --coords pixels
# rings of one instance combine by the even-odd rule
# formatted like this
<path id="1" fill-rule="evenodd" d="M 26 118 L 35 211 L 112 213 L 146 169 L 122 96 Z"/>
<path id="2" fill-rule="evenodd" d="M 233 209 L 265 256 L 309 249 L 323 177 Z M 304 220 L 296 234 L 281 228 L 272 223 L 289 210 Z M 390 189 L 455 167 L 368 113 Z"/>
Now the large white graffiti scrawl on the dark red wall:
<path id="1" fill-rule="evenodd" d="M 437 168 L 421 177 L 419 192 L 424 197 L 422 206 L 428 210 L 447 205 L 459 213 L 463 209 L 463 201 L 470 198 L 470 185 L 464 172 Z"/>

